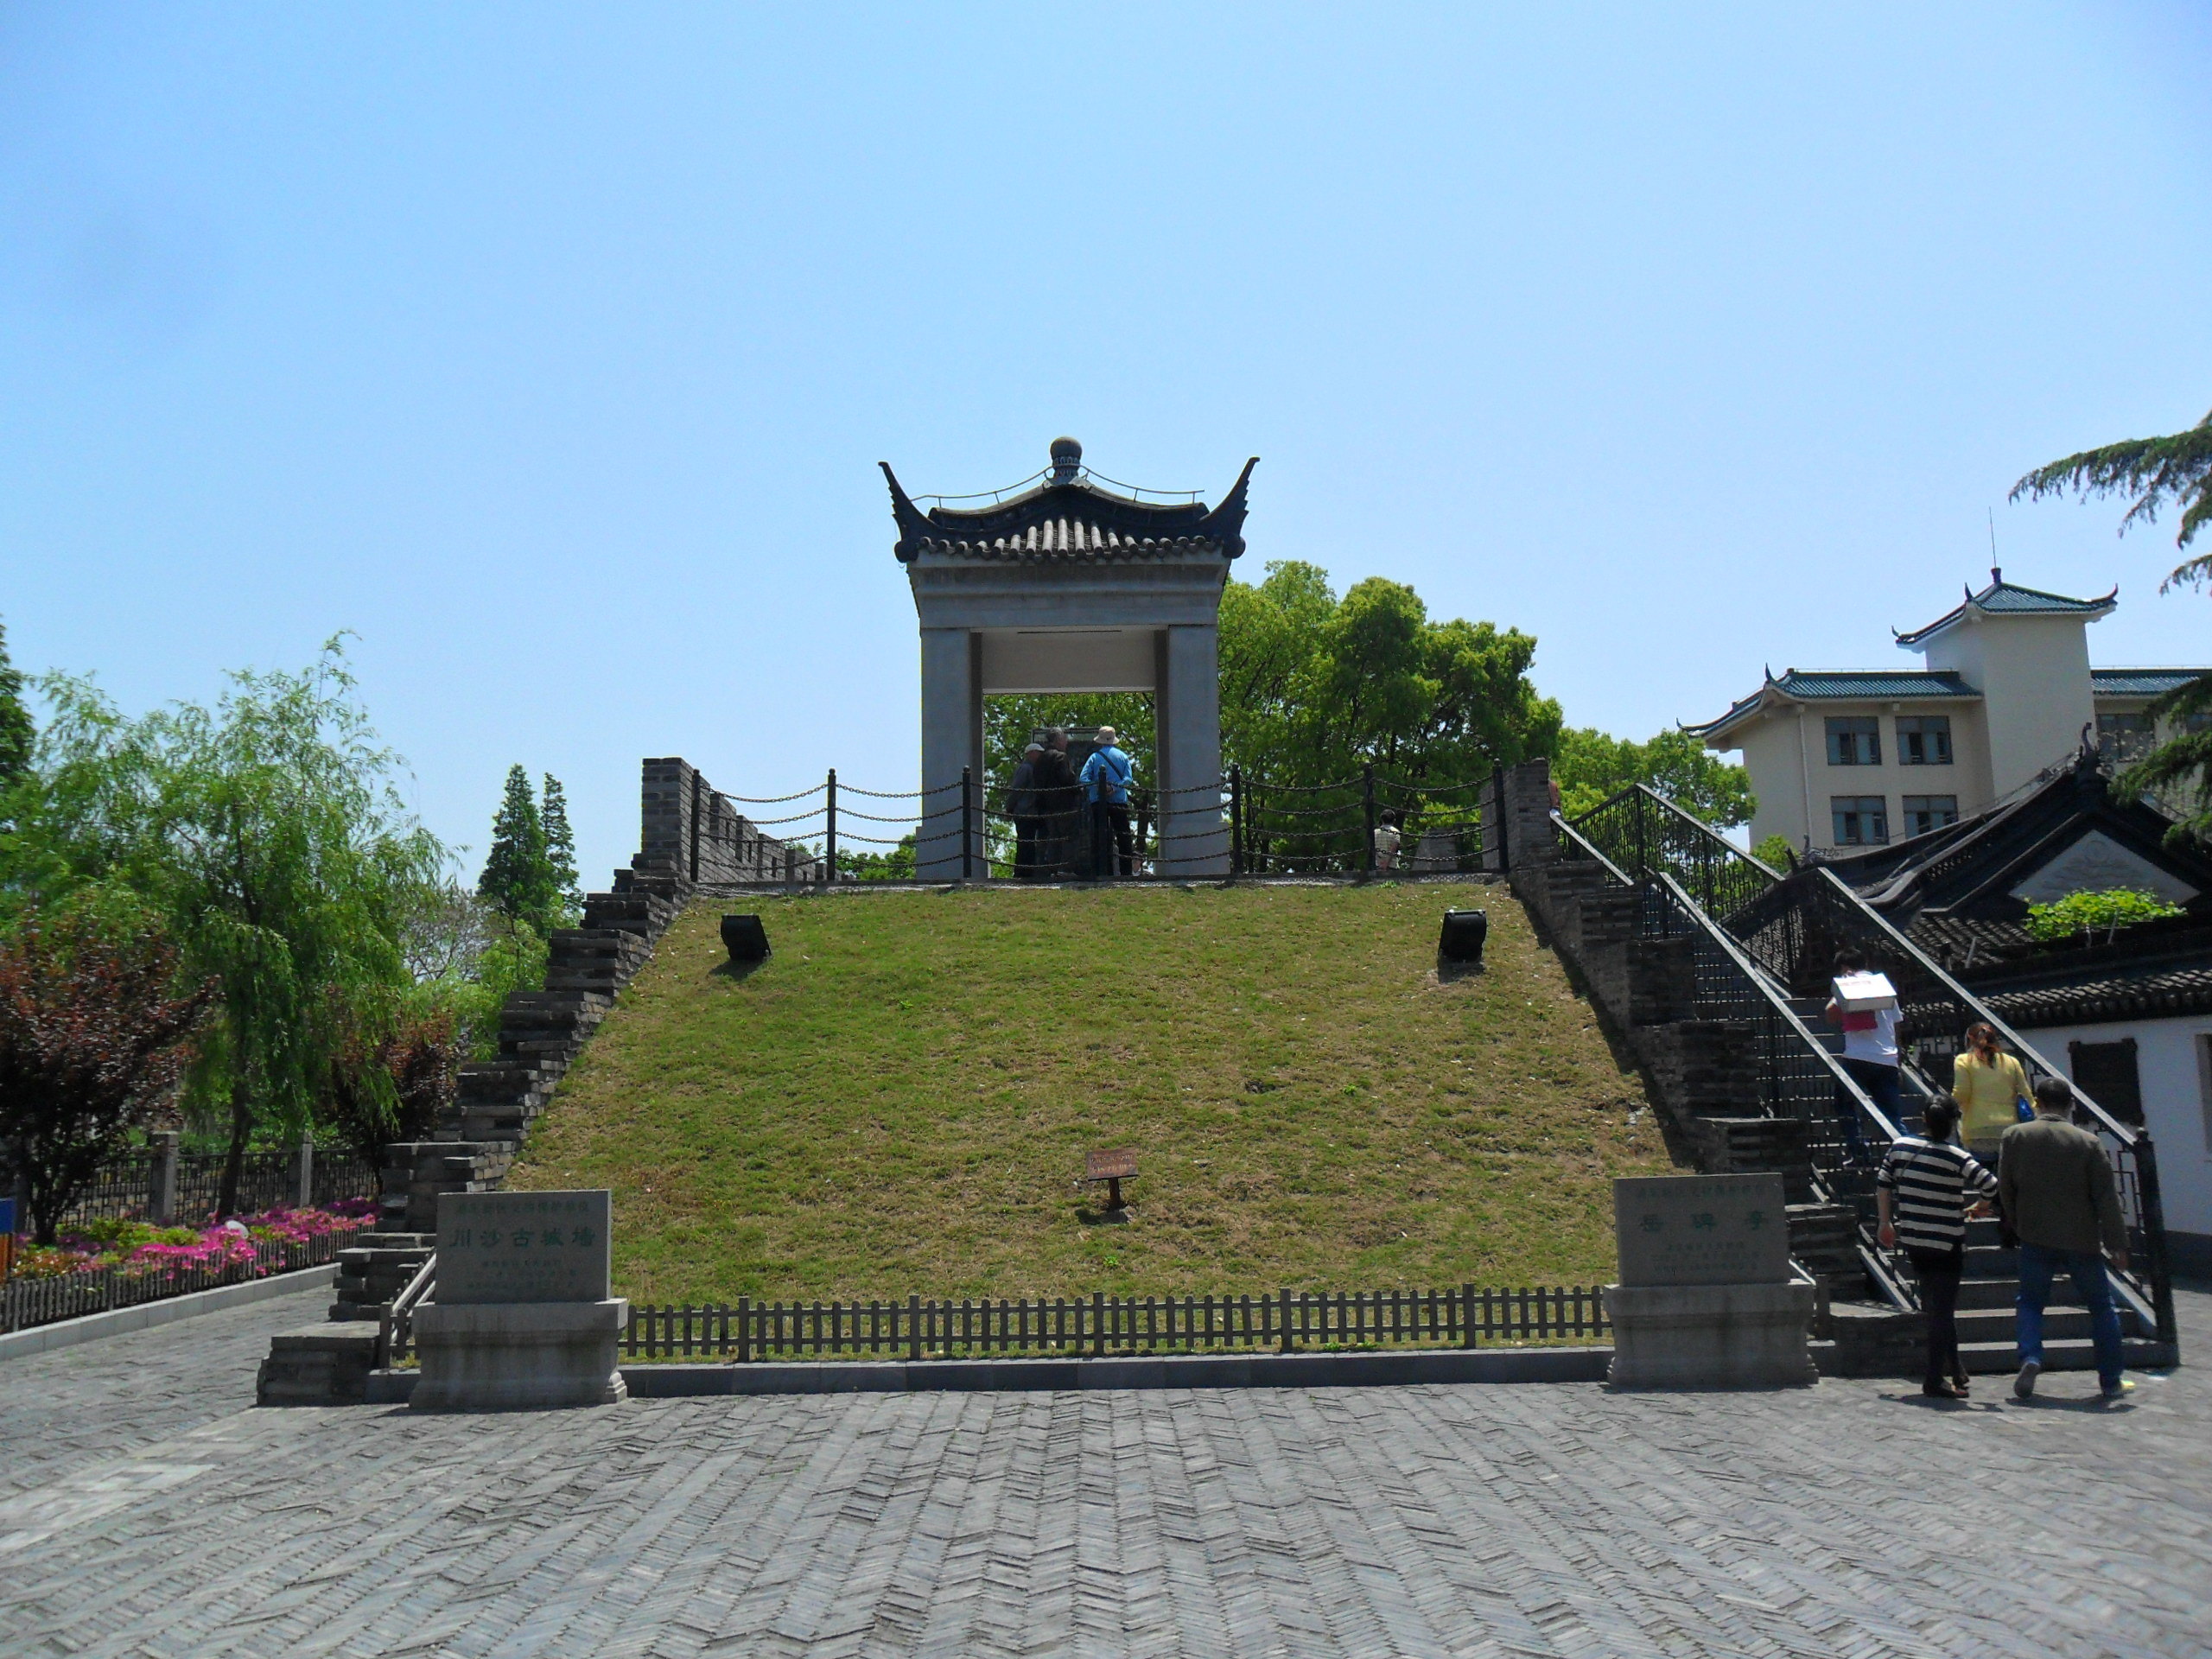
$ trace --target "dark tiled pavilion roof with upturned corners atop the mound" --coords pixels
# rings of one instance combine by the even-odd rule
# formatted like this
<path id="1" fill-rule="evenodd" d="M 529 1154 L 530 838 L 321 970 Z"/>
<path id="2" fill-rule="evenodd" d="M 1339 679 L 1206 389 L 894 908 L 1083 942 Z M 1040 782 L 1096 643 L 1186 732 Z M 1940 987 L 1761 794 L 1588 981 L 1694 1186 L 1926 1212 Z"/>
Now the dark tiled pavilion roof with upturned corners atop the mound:
<path id="1" fill-rule="evenodd" d="M 1035 489 L 991 507 L 931 507 L 922 511 L 900 489 L 898 476 L 883 465 L 891 484 L 891 518 L 898 522 L 898 562 L 911 564 L 922 553 L 1022 562 L 1022 564 L 1106 564 L 1119 560 L 1161 560 L 1217 555 L 1234 560 L 1243 553 L 1243 522 L 1252 467 L 1245 462 L 1237 484 L 1221 504 L 1141 502 L 1099 489 L 1079 469 L 1082 445 L 1062 438 L 1053 445 L 1053 469 Z"/>

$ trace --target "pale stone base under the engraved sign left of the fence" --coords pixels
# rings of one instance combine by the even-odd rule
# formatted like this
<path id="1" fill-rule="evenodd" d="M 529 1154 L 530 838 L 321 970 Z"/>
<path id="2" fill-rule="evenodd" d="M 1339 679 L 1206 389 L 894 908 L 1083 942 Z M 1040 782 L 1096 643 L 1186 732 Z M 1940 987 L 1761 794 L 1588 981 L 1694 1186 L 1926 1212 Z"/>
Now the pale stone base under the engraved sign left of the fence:
<path id="1" fill-rule="evenodd" d="M 411 1411 L 542 1411 L 615 1405 L 630 1303 L 422 1303 L 414 1316 L 422 1380 Z"/>

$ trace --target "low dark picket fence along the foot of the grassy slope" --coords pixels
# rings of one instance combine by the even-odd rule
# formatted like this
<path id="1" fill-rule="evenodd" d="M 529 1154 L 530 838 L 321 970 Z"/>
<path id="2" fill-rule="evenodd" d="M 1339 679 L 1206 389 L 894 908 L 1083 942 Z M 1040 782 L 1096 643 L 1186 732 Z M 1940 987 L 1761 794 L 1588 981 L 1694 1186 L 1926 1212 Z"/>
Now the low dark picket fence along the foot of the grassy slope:
<path id="1" fill-rule="evenodd" d="M 953 1358 L 1482 1347 L 1606 1336 L 1597 1285 L 1279 1290 L 1261 1296 L 1055 1296 L 661 1307 L 633 1303 L 635 1360 Z"/>

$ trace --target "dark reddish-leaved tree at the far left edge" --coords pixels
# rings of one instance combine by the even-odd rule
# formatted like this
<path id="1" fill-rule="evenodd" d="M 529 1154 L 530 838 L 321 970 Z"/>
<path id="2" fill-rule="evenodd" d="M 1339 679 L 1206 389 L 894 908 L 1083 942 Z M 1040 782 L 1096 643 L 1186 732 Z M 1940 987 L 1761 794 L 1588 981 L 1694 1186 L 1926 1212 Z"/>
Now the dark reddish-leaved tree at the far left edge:
<path id="1" fill-rule="evenodd" d="M 88 909 L 29 916 L 0 942 L 0 1141 L 29 1181 L 38 1243 L 170 1104 L 217 989 L 175 984 L 175 947 Z"/>

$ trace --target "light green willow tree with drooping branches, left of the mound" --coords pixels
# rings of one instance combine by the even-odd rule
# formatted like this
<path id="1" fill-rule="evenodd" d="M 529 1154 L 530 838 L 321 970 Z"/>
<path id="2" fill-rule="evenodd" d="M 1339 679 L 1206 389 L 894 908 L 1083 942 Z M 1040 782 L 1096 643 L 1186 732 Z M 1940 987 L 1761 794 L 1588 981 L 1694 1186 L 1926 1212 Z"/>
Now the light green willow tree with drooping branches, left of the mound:
<path id="1" fill-rule="evenodd" d="M 299 675 L 232 675 L 215 708 L 124 719 L 91 681 L 44 690 L 42 799 L 13 876 L 128 885 L 181 971 L 215 980 L 186 1108 L 228 1130 L 234 1210 L 254 1133 L 310 1128 L 334 1060 L 403 1004 L 405 925 L 445 849 L 405 812 L 336 639 Z"/>

